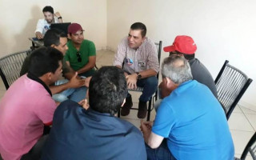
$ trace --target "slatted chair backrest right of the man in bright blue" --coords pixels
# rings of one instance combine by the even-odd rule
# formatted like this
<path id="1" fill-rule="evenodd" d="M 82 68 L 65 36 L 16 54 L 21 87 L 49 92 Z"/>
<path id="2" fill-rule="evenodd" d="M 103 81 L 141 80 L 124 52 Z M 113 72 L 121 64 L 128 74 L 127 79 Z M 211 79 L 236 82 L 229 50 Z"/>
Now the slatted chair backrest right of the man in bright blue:
<path id="1" fill-rule="evenodd" d="M 226 111 L 226 119 L 230 118 L 234 107 L 253 81 L 241 70 L 228 63 L 229 61 L 226 60 L 214 81 L 218 92 L 218 101 Z"/>

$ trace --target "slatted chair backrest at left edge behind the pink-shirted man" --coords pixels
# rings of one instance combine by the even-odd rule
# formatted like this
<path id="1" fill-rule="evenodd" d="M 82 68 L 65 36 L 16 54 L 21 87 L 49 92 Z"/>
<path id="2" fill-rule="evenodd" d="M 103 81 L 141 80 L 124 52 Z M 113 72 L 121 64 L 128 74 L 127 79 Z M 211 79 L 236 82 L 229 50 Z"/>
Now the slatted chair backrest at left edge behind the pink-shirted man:
<path id="1" fill-rule="evenodd" d="M 0 58 L 0 75 L 6 86 L 6 90 L 8 90 L 10 85 L 20 77 L 22 64 L 30 52 L 31 50 L 25 50 Z"/>

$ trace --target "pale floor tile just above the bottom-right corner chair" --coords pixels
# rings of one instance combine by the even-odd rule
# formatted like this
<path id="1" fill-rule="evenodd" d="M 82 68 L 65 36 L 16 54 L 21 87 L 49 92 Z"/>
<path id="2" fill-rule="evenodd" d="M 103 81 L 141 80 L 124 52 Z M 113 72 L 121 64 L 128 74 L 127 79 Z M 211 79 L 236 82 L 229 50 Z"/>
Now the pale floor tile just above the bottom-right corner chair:
<path id="1" fill-rule="evenodd" d="M 253 126 L 250 125 L 246 116 L 241 113 L 232 113 L 228 123 L 230 130 L 254 131 Z"/>

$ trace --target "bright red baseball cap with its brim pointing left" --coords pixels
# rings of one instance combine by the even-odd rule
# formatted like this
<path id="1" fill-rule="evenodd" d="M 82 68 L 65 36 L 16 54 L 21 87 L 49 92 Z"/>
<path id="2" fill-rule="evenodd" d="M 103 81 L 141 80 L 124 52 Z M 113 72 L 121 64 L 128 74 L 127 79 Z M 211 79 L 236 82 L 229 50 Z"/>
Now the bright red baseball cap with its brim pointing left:
<path id="1" fill-rule="evenodd" d="M 172 52 L 177 50 L 182 54 L 194 54 L 197 50 L 197 45 L 194 43 L 194 40 L 190 36 L 178 35 L 172 46 L 166 46 L 163 48 L 165 52 Z"/>

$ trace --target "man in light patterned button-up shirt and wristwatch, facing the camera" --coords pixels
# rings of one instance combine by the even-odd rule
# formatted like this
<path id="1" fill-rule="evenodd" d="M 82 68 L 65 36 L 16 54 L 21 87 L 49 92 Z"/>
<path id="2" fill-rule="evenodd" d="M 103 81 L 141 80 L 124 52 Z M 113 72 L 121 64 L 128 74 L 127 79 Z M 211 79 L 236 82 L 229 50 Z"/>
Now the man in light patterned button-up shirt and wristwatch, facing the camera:
<path id="1" fill-rule="evenodd" d="M 124 64 L 123 64 L 124 62 Z M 123 64 L 123 66 L 122 66 Z M 158 54 L 154 42 L 146 37 L 146 26 L 135 22 L 130 26 L 128 37 L 123 38 L 114 55 L 114 66 L 125 71 L 128 88 L 143 87 L 138 103 L 138 118 L 146 117 L 146 102 L 158 88 L 159 70 Z M 122 107 L 121 115 L 130 114 L 133 106 L 131 95 L 128 93 L 126 104 Z"/>

